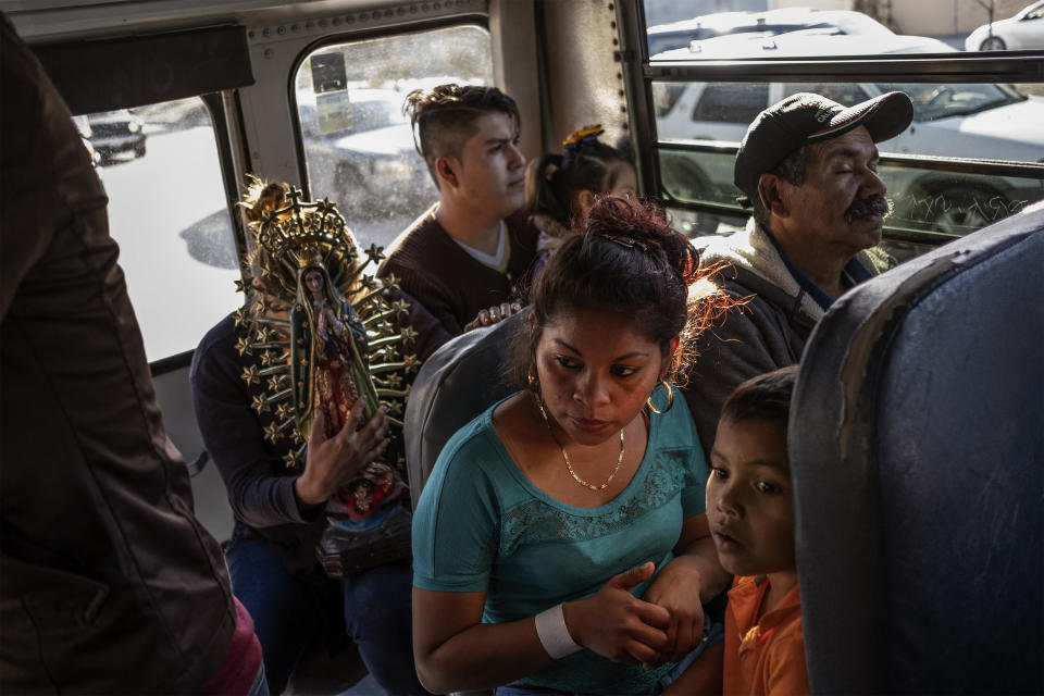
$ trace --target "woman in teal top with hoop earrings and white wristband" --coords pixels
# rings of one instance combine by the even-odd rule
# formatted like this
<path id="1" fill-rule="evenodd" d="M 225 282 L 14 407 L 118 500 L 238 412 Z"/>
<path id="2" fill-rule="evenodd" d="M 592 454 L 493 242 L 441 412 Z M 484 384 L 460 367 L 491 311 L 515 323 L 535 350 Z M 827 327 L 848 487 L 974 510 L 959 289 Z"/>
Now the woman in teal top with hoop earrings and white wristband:
<path id="1" fill-rule="evenodd" d="M 670 382 L 730 302 L 689 300 L 703 277 L 660 211 L 618 197 L 548 260 L 510 351 L 522 390 L 449 440 L 414 514 L 428 689 L 654 694 L 714 643 L 701 600 L 728 576 Z"/>

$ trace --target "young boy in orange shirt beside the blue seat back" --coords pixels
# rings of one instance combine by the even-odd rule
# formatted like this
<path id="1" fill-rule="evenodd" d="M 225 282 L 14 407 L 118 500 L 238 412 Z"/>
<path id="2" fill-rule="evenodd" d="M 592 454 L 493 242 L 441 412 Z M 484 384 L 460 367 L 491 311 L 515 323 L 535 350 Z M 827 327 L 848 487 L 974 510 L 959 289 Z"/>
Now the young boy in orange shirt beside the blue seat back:
<path id="1" fill-rule="evenodd" d="M 747 380 L 721 409 L 710 451 L 707 521 L 735 575 L 725 610 L 722 693 L 808 693 L 794 558 L 786 421 L 797 365 Z M 708 655 L 709 656 L 709 655 Z M 696 660 L 669 692 L 694 693 L 714 664 Z"/>

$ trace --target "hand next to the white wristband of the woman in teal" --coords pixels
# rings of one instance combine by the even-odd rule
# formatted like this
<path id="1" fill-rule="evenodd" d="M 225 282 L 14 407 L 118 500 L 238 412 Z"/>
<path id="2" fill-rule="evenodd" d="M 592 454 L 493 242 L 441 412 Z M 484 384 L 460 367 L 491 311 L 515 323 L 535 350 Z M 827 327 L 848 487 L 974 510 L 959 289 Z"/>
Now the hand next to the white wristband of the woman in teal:
<path id="1" fill-rule="evenodd" d="M 652 662 L 667 645 L 670 612 L 631 594 L 652 575 L 645 563 L 613 576 L 587 599 L 562 607 L 573 641 L 602 657 L 626 664 Z"/>

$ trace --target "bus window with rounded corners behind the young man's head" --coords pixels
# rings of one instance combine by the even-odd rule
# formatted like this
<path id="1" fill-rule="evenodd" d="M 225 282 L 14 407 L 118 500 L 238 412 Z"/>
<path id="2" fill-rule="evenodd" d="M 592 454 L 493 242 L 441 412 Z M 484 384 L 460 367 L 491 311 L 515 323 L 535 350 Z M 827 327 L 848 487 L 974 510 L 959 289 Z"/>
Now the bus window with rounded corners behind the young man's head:
<path id="1" fill-rule="evenodd" d="M 413 89 L 493 82 L 489 33 L 462 25 L 325 46 L 296 76 L 312 198 L 338 204 L 362 248 L 387 247 L 438 194 L 402 113 Z"/>

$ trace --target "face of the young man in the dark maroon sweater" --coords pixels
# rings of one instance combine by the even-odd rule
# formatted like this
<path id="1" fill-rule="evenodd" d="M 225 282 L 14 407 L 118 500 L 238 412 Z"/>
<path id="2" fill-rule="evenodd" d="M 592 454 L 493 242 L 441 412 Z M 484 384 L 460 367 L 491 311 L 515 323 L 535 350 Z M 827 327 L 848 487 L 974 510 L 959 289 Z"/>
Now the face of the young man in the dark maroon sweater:
<path id="1" fill-rule="evenodd" d="M 459 195 L 472 207 L 507 217 L 525 200 L 525 157 L 519 126 L 506 113 L 490 112 L 474 122 L 456 169 Z"/>

